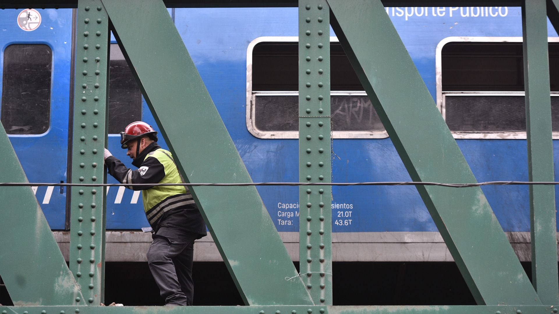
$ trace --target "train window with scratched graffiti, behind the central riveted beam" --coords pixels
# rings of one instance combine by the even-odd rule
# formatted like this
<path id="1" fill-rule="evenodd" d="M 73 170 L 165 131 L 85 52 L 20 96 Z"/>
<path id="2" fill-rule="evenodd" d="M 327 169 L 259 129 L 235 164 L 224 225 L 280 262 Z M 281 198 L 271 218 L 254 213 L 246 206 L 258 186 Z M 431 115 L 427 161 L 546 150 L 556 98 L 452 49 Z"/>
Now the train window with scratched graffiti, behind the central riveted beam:
<path id="1" fill-rule="evenodd" d="M 260 37 L 247 54 L 247 127 L 259 138 L 297 138 L 297 37 Z M 330 42 L 330 115 L 334 138 L 386 138 L 371 100 L 337 38 Z"/>

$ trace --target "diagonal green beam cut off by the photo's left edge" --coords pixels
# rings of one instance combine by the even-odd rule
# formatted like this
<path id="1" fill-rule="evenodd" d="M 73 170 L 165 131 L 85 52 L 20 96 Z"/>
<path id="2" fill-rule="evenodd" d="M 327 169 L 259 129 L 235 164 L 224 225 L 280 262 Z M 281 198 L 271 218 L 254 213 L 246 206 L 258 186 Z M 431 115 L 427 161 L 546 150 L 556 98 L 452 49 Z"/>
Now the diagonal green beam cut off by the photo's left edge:
<path id="1" fill-rule="evenodd" d="M 28 182 L 0 127 L 0 182 Z M 0 189 L 0 276 L 14 305 L 74 305 L 82 292 L 31 187 Z"/>

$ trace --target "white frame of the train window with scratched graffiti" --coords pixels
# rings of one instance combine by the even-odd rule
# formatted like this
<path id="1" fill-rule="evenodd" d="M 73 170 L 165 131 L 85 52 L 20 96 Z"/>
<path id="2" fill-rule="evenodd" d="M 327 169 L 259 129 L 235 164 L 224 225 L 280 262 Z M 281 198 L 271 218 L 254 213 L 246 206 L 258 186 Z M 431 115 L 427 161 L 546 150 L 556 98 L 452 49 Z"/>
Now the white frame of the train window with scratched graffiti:
<path id="1" fill-rule="evenodd" d="M 262 131 L 256 127 L 255 122 L 255 97 L 259 96 L 297 96 L 299 91 L 253 91 L 252 90 L 252 53 L 254 47 L 260 42 L 298 42 L 297 36 L 263 36 L 255 38 L 248 45 L 247 49 L 247 129 L 253 136 L 257 138 L 299 138 L 299 131 Z M 330 37 L 330 42 L 338 42 L 338 37 Z M 336 96 L 364 96 L 367 93 L 364 90 L 333 90 L 330 95 Z M 387 138 L 386 131 L 334 131 L 332 138 Z"/>

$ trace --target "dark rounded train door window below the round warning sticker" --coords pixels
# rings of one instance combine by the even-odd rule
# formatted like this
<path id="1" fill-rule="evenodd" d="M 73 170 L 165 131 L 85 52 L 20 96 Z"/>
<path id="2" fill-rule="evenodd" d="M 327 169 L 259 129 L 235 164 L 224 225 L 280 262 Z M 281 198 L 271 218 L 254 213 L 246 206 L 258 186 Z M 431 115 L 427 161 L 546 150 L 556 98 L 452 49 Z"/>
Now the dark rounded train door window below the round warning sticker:
<path id="1" fill-rule="evenodd" d="M 53 52 L 47 45 L 4 49 L 2 124 L 8 134 L 42 134 L 49 129 Z"/>

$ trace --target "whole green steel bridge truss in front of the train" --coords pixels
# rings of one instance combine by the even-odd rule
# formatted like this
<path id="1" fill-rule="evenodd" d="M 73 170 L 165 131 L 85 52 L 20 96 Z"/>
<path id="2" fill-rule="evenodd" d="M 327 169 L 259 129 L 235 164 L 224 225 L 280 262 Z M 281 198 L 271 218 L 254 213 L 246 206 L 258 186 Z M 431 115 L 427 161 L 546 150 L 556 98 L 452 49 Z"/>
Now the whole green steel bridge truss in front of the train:
<path id="1" fill-rule="evenodd" d="M 546 17 L 559 30 L 559 0 L 385 2 L 396 3 L 522 6 L 529 179 L 553 181 Z M 330 25 L 411 178 L 476 182 L 380 0 L 168 1 L 167 5 L 299 6 L 300 182 L 331 180 Z M 160 132 L 176 156 L 184 180 L 251 182 L 163 1 L 29 1 L 0 6 L 77 7 L 73 183 L 106 182 L 102 151 L 107 141 L 110 30 L 119 41 Z M 188 115 L 175 114 L 178 110 Z M 27 182 L 3 128 L 0 128 L 0 145 L 4 147 L 0 150 L 3 161 L 0 182 Z M 190 146 L 197 149 L 187 149 Z M 479 187 L 418 186 L 417 189 L 477 306 L 332 306 L 329 186 L 300 188 L 301 276 L 254 186 L 197 186 L 191 188 L 192 194 L 246 306 L 101 307 L 105 189 L 72 189 L 68 267 L 31 188 L 2 187 L 0 275 L 15 306 L 0 306 L 0 312 L 557 313 L 559 289 L 552 186 L 530 186 L 533 283 Z M 239 194 L 245 197 L 235 197 Z M 295 277 L 286 280 L 286 276 Z"/>

